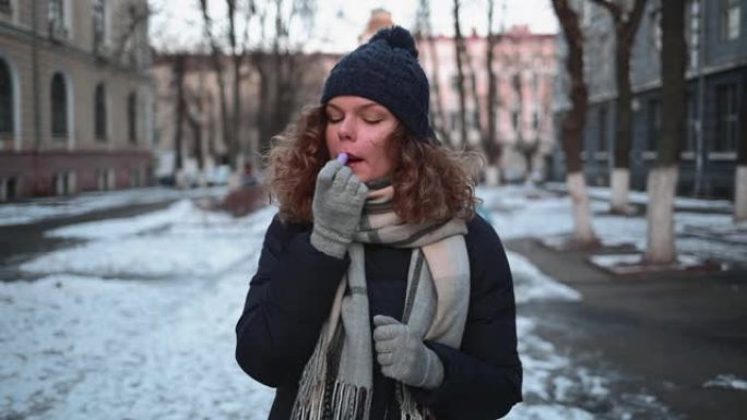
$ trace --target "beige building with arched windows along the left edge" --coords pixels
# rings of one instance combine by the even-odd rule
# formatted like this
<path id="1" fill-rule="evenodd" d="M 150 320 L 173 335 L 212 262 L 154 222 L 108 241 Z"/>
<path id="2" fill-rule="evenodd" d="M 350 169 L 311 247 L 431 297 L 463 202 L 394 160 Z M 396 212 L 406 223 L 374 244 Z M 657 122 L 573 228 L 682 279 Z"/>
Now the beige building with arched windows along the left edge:
<path id="1" fill-rule="evenodd" d="M 147 16 L 146 0 L 0 0 L 0 201 L 149 182 Z"/>

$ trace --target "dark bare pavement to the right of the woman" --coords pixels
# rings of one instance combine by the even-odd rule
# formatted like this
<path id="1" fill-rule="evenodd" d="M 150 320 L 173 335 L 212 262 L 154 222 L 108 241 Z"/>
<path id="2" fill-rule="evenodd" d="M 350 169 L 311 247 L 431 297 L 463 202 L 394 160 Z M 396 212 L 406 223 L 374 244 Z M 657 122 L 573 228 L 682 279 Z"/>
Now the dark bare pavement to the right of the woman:
<path id="1" fill-rule="evenodd" d="M 541 334 L 559 349 L 637 377 L 675 416 L 747 419 L 747 391 L 704 386 L 719 375 L 747 380 L 747 271 L 614 277 L 589 253 L 556 252 L 534 239 L 507 241 L 581 302 L 545 302 Z"/>

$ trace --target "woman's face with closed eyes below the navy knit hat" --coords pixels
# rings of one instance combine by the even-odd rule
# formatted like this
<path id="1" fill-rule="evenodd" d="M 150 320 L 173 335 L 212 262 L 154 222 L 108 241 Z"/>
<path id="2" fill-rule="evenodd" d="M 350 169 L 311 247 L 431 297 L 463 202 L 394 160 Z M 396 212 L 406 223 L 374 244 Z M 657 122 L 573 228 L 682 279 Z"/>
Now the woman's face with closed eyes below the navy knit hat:
<path id="1" fill-rule="evenodd" d="M 327 103 L 324 137 L 330 158 L 345 152 L 347 166 L 363 182 L 391 172 L 391 134 L 399 120 L 386 107 L 359 96 L 336 96 Z"/>

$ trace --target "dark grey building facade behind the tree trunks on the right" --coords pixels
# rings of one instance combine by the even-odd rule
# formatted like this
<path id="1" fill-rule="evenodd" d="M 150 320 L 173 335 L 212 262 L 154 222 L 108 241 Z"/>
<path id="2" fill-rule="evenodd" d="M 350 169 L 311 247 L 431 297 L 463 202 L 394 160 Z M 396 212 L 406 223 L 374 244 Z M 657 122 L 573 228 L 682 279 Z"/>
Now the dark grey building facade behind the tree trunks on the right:
<path id="1" fill-rule="evenodd" d="M 584 172 L 590 184 L 607 185 L 615 133 L 615 34 L 606 10 L 577 2 L 586 41 L 585 77 L 589 113 L 584 132 Z M 631 57 L 632 146 L 630 184 L 645 189 L 648 170 L 656 159 L 661 131 L 661 0 L 650 0 L 636 35 Z M 686 0 L 688 46 L 687 137 L 681 140 L 680 194 L 731 197 L 738 142 L 747 121 L 747 0 Z M 559 49 L 565 50 L 560 36 Z M 565 60 L 560 55 L 560 60 Z M 562 84 L 558 91 L 565 91 Z M 566 91 L 567 92 L 567 91 Z M 565 93 L 565 92 L 564 92 Z M 556 95 L 559 116 L 569 106 Z M 558 147 L 553 177 L 565 176 Z"/>

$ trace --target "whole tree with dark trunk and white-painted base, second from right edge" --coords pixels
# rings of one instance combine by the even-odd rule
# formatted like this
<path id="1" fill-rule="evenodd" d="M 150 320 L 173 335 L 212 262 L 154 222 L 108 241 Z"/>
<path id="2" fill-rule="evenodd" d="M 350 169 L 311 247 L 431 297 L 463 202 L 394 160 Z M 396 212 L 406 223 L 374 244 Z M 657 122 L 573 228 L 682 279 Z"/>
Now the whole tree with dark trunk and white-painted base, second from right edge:
<path id="1" fill-rule="evenodd" d="M 674 197 L 677 189 L 681 140 L 686 135 L 685 2 L 662 2 L 662 136 L 656 164 L 648 178 L 648 243 L 645 261 L 671 264 L 676 259 Z"/>

